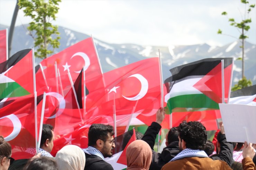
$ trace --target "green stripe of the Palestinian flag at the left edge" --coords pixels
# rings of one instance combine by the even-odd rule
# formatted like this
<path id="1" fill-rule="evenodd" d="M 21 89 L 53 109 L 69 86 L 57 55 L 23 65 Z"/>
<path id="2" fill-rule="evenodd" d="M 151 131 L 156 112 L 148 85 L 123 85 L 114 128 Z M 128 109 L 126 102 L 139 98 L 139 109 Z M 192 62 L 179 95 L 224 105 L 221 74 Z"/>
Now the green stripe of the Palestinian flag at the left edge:
<path id="1" fill-rule="evenodd" d="M 0 99 L 30 94 L 16 82 L 0 83 Z"/>

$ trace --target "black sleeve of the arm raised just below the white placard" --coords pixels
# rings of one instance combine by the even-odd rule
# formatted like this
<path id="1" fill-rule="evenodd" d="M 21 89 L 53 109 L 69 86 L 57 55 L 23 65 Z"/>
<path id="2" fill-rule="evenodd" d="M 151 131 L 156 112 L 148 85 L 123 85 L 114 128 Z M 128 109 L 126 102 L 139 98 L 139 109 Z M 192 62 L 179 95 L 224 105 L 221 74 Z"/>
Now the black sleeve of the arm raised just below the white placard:
<path id="1" fill-rule="evenodd" d="M 220 136 L 220 153 L 218 156 L 211 157 L 213 160 L 222 160 L 228 163 L 231 166 L 233 161 L 233 144 L 227 142 L 226 135 L 221 134 Z"/>

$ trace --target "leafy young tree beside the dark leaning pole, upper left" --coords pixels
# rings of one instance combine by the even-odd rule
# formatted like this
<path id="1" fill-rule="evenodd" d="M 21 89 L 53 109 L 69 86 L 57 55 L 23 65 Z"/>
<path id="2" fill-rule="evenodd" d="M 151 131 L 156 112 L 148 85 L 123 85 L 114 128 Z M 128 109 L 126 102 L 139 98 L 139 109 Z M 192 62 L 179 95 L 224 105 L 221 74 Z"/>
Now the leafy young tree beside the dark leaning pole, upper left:
<path id="1" fill-rule="evenodd" d="M 24 9 L 25 16 L 33 20 L 27 29 L 34 39 L 35 47 L 38 47 L 35 57 L 45 59 L 47 54 L 60 46 L 58 27 L 51 24 L 51 21 L 56 20 L 59 2 L 61 0 L 19 0 L 19 7 Z"/>

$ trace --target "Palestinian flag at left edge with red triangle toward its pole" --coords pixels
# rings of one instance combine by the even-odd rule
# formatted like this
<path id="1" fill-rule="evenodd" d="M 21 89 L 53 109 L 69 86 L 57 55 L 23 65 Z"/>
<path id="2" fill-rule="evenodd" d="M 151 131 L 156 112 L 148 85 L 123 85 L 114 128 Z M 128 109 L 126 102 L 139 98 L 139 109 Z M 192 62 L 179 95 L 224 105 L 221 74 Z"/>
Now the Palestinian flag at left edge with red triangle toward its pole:
<path id="1" fill-rule="evenodd" d="M 20 97 L 33 93 L 31 57 L 32 50 L 25 49 L 0 63 L 0 101 L 4 98 Z"/>

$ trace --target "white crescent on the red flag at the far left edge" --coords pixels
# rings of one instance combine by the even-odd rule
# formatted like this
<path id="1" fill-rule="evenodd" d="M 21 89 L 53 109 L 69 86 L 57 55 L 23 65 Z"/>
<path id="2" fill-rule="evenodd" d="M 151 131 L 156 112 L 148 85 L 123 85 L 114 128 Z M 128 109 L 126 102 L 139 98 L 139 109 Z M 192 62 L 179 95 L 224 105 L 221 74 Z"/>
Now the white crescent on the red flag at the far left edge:
<path id="1" fill-rule="evenodd" d="M 6 141 L 10 141 L 18 136 L 18 134 L 21 130 L 21 122 L 20 122 L 19 118 L 14 114 L 10 114 L 8 116 L 1 117 L 0 119 L 3 119 L 3 118 L 10 119 L 13 124 L 12 132 L 7 137 L 4 138 Z"/>

